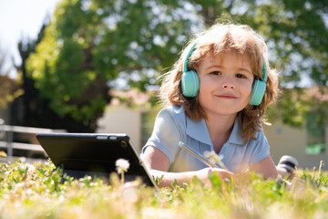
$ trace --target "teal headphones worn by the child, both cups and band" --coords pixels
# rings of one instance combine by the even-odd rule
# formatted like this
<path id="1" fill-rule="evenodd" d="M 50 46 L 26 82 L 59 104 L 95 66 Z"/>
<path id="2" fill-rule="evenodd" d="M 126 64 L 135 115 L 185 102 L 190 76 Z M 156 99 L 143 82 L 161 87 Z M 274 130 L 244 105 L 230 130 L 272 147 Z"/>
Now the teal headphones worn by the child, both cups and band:
<path id="1" fill-rule="evenodd" d="M 188 52 L 188 55 L 183 63 L 183 68 L 182 68 L 182 76 L 181 76 L 182 93 L 185 97 L 188 98 L 196 97 L 200 90 L 200 78 L 198 74 L 193 70 L 188 70 L 189 58 L 195 47 L 196 44 L 194 44 L 190 48 L 190 51 Z M 266 89 L 265 82 L 268 79 L 268 69 L 266 67 L 265 61 L 263 61 L 262 75 L 263 75 L 262 79 L 256 78 L 254 80 L 251 89 L 251 99 L 249 102 L 250 105 L 259 106 L 261 104 L 261 100 L 263 99 Z"/>

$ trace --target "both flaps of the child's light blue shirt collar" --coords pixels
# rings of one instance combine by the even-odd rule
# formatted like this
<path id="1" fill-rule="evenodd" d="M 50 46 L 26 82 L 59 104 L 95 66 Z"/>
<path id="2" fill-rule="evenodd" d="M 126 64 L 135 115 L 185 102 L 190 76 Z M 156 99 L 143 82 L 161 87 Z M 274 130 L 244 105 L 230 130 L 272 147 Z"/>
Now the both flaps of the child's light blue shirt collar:
<path id="1" fill-rule="evenodd" d="M 206 126 L 205 120 L 204 119 L 190 120 L 190 118 L 188 116 L 186 116 L 186 118 L 187 118 L 187 121 L 186 121 L 187 135 L 189 135 L 190 138 L 193 138 L 197 141 L 201 141 L 205 144 L 212 145 L 212 142 L 210 141 L 210 133 Z M 229 137 L 227 142 L 243 145 L 244 144 L 243 141 L 244 140 L 241 136 L 241 126 L 240 126 L 240 122 L 237 117 L 233 124 L 231 136 Z"/>

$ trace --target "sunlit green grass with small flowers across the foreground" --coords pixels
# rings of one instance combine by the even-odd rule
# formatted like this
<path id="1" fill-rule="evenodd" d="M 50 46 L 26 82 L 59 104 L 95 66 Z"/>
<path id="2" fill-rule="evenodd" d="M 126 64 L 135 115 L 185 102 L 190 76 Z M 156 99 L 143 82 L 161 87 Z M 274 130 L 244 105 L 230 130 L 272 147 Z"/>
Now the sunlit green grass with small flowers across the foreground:
<path id="1" fill-rule="evenodd" d="M 253 173 L 232 181 L 210 178 L 155 189 L 140 182 L 111 184 L 67 178 L 51 162 L 0 163 L 0 218 L 327 218 L 326 172 L 298 171 L 292 189 Z"/>

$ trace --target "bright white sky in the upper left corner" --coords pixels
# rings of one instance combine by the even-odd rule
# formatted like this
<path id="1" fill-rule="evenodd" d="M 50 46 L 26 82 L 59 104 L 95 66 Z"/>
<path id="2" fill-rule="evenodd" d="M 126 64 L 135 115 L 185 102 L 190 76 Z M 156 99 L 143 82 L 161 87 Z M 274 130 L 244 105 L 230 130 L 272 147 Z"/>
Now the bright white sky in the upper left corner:
<path id="1" fill-rule="evenodd" d="M 5 52 L 6 68 L 21 64 L 17 49 L 22 38 L 36 39 L 47 16 L 52 16 L 59 0 L 0 0 L 0 50 Z M 15 70 L 10 77 L 15 78 Z"/>

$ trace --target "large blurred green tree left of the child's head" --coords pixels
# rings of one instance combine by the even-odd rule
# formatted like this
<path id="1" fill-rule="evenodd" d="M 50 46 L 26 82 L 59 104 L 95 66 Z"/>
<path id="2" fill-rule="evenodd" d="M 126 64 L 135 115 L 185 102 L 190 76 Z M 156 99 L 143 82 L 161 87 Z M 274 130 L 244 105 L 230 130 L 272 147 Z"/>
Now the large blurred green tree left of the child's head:
<path id="1" fill-rule="evenodd" d="M 108 81 L 141 90 L 158 83 L 195 23 L 179 4 L 63 0 L 27 72 L 58 115 L 91 120 L 108 103 Z"/>

